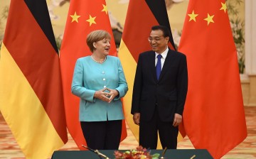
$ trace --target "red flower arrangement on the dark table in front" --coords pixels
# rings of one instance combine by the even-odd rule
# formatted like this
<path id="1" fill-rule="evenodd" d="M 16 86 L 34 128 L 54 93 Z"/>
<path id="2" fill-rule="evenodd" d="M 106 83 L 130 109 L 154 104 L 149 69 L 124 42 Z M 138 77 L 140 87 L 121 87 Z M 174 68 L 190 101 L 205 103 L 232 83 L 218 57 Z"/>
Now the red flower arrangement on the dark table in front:
<path id="1" fill-rule="evenodd" d="M 119 152 L 118 150 L 114 151 L 114 158 L 116 159 L 157 159 L 159 158 L 159 153 L 150 155 L 150 150 L 138 146 L 136 150 L 127 150 L 124 153 Z"/>

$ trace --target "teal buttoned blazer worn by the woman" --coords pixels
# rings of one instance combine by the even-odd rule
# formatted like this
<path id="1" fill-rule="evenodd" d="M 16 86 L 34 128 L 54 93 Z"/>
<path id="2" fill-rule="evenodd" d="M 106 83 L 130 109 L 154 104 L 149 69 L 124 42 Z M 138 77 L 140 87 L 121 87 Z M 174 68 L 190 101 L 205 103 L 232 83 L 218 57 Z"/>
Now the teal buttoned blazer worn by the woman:
<path id="1" fill-rule="evenodd" d="M 105 87 L 119 92 L 119 96 L 110 103 L 93 97 L 96 91 Z M 87 56 L 79 58 L 75 63 L 71 92 L 80 97 L 80 121 L 124 119 L 120 98 L 127 91 L 127 81 L 118 57 L 108 55 L 107 60 L 100 64 Z"/>

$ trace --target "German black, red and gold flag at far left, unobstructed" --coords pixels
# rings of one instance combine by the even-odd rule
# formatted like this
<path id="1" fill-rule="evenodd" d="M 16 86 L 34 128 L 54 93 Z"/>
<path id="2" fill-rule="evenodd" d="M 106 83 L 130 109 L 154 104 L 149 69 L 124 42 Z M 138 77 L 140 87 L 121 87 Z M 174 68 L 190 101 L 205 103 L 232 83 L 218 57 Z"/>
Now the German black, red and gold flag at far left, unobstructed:
<path id="1" fill-rule="evenodd" d="M 12 0 L 0 54 L 0 110 L 26 158 L 68 141 L 58 48 L 45 0 Z"/>

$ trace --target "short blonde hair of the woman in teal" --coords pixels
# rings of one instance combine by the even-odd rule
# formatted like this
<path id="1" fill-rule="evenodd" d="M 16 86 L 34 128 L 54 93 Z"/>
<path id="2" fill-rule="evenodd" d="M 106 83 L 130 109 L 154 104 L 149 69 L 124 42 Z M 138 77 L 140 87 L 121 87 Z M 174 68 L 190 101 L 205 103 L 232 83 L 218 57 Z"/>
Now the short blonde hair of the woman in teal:
<path id="1" fill-rule="evenodd" d="M 93 52 L 96 48 L 93 46 L 93 43 L 103 40 L 103 39 L 110 39 L 110 33 L 108 33 L 107 31 L 103 31 L 103 30 L 97 30 L 97 31 L 92 31 L 91 33 L 89 33 L 87 35 L 86 38 L 86 43 L 88 45 L 88 47 L 90 48 L 90 51 Z"/>

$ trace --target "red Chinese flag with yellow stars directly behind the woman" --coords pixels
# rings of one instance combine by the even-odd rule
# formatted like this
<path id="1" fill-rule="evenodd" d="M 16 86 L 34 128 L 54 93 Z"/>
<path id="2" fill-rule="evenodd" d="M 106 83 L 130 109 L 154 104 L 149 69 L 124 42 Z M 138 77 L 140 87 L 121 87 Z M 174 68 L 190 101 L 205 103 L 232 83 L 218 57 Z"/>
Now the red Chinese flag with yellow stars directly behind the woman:
<path id="1" fill-rule="evenodd" d="M 65 33 L 60 49 L 60 69 L 63 79 L 65 114 L 70 135 L 80 149 L 85 145 L 85 138 L 79 121 L 79 98 L 71 94 L 71 82 L 75 62 L 79 57 L 91 55 L 86 44 L 87 34 L 95 30 L 105 30 L 112 35 L 110 19 L 105 0 L 70 1 Z M 117 55 L 112 36 L 110 55 Z M 122 140 L 127 131 L 123 121 Z"/>

